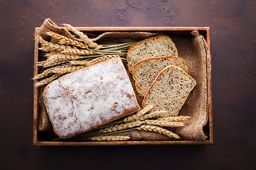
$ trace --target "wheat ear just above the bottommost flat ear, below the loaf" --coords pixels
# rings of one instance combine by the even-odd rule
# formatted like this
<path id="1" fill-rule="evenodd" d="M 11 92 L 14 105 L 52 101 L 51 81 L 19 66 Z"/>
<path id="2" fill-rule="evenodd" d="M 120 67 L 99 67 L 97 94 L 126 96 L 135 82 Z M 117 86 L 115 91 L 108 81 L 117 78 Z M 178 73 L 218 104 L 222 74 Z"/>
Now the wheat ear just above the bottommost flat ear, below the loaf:
<path id="1" fill-rule="evenodd" d="M 109 128 L 100 130 L 100 132 L 115 132 L 115 131 L 124 130 L 127 128 L 134 128 L 134 127 L 140 126 L 142 124 L 143 124 L 142 121 L 134 121 L 134 122 L 124 123 L 124 124 L 120 124 L 120 125 L 110 126 Z"/>

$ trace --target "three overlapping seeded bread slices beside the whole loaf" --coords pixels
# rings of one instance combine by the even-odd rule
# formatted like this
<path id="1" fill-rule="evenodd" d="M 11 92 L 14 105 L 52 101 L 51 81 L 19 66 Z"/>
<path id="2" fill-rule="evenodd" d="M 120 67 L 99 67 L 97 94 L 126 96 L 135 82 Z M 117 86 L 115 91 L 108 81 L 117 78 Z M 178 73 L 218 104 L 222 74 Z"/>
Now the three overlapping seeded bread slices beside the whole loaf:
<path id="1" fill-rule="evenodd" d="M 127 52 L 129 71 L 133 74 L 142 106 L 153 105 L 154 111 L 178 115 L 196 80 L 188 75 L 186 62 L 168 36 L 148 38 L 132 45 Z"/>

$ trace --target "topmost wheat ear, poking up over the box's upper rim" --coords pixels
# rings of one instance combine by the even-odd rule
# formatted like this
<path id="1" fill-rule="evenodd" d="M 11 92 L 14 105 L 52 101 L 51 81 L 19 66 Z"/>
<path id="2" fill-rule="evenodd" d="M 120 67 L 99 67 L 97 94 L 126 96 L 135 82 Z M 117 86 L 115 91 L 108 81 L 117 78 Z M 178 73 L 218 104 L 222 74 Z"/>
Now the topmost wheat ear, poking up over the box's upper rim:
<path id="1" fill-rule="evenodd" d="M 80 32 L 75 27 L 71 26 L 68 23 L 63 23 L 63 26 L 65 26 L 65 28 L 67 28 L 68 30 L 70 30 L 73 33 L 75 33 L 76 35 L 78 35 L 80 40 L 82 40 L 83 42 L 87 43 L 87 45 L 89 45 L 89 47 L 95 47 L 95 48 L 98 47 L 97 43 L 95 43 L 92 40 L 90 40 L 90 38 L 88 38 L 87 35 L 85 35 L 84 33 Z"/>

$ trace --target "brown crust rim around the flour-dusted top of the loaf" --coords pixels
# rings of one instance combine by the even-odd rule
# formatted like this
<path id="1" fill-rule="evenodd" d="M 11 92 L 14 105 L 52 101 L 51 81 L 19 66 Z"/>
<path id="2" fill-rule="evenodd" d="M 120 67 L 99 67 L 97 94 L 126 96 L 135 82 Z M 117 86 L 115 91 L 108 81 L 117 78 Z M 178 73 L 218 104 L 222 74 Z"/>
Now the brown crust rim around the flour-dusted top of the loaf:
<path id="1" fill-rule="evenodd" d="M 109 60 L 120 60 L 120 58 L 119 58 L 119 57 L 115 57 L 115 58 L 112 58 L 112 59 L 109 59 Z M 102 64 L 102 63 L 104 63 L 104 62 L 108 62 L 109 60 L 105 60 L 105 61 L 99 62 L 99 63 L 97 63 L 97 64 Z M 93 65 L 91 65 L 91 66 L 88 66 L 88 67 L 85 67 L 85 68 L 82 68 L 82 69 L 83 69 L 83 70 L 90 69 L 90 67 L 94 67 L 95 65 L 96 65 L 96 64 L 93 64 Z M 77 71 L 75 71 L 75 72 L 77 72 Z M 60 77 L 60 78 L 63 79 L 63 78 L 65 78 L 65 77 L 69 77 L 70 74 L 74 74 L 75 72 L 71 72 L 71 73 L 69 73 L 69 74 L 65 74 L 63 77 Z M 127 77 L 128 77 L 128 75 L 127 75 Z M 59 81 L 60 78 L 56 79 L 55 81 Z M 48 106 L 46 105 L 46 97 L 45 97 L 45 95 L 47 94 L 47 93 L 46 93 L 46 90 L 48 89 L 48 87 L 49 87 L 49 84 L 43 89 L 43 103 L 45 104 L 47 110 L 48 110 Z M 137 101 L 136 101 L 136 102 L 137 102 Z M 100 123 L 99 125 L 103 125 L 103 124 L 109 123 L 109 122 L 111 122 L 111 121 L 113 121 L 113 120 L 117 120 L 117 119 L 119 119 L 119 118 L 122 118 L 122 117 L 124 117 L 124 116 L 126 116 L 126 115 L 130 115 L 130 114 L 132 114 L 132 113 L 135 113 L 136 111 L 139 111 L 140 109 L 141 109 L 141 108 L 139 107 L 139 104 L 137 103 L 137 106 L 136 106 L 135 108 L 132 108 L 132 109 L 124 109 L 122 115 L 120 114 L 120 115 L 114 116 L 114 117 L 112 117 L 111 119 L 109 119 L 109 120 L 107 120 L 107 121 L 106 121 L 106 120 L 102 120 L 102 123 Z M 48 111 L 47 111 L 47 113 L 48 113 Z M 48 113 L 48 117 L 49 117 L 49 119 L 50 119 L 50 123 L 51 123 L 52 126 L 53 126 L 53 131 L 54 131 L 55 135 L 58 135 L 59 137 L 61 137 L 61 138 L 63 138 L 63 139 L 67 139 L 67 138 L 73 137 L 73 136 L 78 135 L 78 134 L 81 133 L 81 132 L 76 132 L 76 133 L 73 133 L 73 134 L 70 134 L 70 135 L 67 135 L 67 136 L 61 136 L 61 135 L 58 134 L 58 132 L 56 132 L 56 130 L 55 130 L 55 128 L 54 128 L 54 125 L 53 125 L 53 120 L 51 120 L 51 117 L 50 117 L 50 114 L 49 114 L 49 113 Z M 88 129 L 88 130 L 86 130 L 86 131 L 82 131 L 82 132 L 87 132 L 87 131 L 89 131 L 89 130 L 92 130 L 93 128 L 96 128 L 96 127 L 99 126 L 99 125 L 95 125 L 94 127 L 90 128 L 90 129 Z"/>

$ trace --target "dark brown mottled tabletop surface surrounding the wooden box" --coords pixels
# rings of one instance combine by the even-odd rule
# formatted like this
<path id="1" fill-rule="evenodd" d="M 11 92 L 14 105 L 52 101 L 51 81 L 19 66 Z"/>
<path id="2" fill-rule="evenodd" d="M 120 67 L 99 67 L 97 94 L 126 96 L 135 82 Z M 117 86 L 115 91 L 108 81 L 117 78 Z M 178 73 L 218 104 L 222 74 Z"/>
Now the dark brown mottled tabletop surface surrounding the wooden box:
<path id="1" fill-rule="evenodd" d="M 210 26 L 214 144 L 35 147 L 33 33 L 73 26 Z M 0 0 L 0 169 L 256 169 L 256 1 Z"/>

